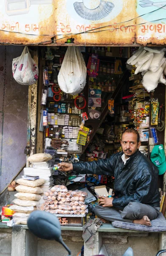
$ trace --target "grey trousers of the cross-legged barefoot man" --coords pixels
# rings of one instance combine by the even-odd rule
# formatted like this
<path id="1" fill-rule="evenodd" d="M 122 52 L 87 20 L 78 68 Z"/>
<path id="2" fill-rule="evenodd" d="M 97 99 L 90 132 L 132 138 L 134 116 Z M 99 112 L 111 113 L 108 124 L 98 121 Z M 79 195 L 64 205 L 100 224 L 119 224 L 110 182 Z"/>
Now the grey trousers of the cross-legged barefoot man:
<path id="1" fill-rule="evenodd" d="M 102 207 L 100 205 L 94 208 L 95 214 L 107 221 L 126 221 L 141 220 L 143 216 L 148 216 L 150 220 L 158 217 L 160 207 L 152 207 L 148 204 L 141 204 L 138 202 L 129 203 L 123 210 L 116 207 Z"/>

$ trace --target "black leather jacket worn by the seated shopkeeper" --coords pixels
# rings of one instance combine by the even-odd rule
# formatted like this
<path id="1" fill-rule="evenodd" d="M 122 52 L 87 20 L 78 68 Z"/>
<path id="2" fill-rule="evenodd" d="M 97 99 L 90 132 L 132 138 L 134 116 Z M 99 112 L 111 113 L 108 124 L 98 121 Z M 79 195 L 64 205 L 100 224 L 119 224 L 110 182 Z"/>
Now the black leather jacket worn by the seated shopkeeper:
<path id="1" fill-rule="evenodd" d="M 114 176 L 117 198 L 113 199 L 113 206 L 125 207 L 129 202 L 140 202 L 160 207 L 158 169 L 140 151 L 135 152 L 125 165 L 122 155 L 120 152 L 107 159 L 73 163 L 73 170 L 80 174 Z"/>

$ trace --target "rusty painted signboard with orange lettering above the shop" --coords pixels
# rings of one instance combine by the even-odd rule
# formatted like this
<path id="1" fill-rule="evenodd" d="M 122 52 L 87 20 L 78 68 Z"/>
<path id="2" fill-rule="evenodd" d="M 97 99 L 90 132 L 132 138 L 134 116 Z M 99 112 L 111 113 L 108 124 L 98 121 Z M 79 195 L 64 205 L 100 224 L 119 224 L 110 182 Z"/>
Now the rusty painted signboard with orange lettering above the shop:
<path id="1" fill-rule="evenodd" d="M 166 1 L 1 0 L 0 43 L 166 44 Z"/>

